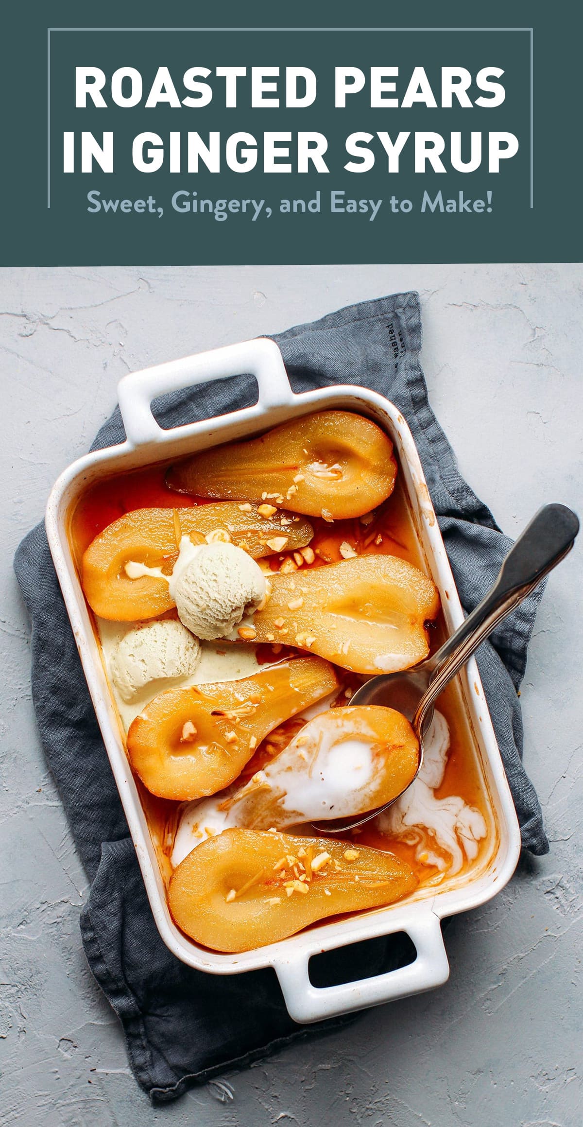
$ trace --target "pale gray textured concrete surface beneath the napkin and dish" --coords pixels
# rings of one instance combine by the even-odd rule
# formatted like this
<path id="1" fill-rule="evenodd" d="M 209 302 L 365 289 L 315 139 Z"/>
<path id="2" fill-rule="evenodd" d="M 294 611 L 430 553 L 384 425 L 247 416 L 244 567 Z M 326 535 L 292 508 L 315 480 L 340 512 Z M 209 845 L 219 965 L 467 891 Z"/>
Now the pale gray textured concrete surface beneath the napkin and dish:
<path id="1" fill-rule="evenodd" d="M 11 558 L 125 372 L 412 287 L 433 406 L 504 530 L 547 500 L 581 509 L 582 285 L 569 265 L 0 273 L 2 1127 L 581 1122 L 582 545 L 549 580 L 522 692 L 550 855 L 452 924 L 441 990 L 157 1110 L 82 955 L 87 881 L 38 745 Z"/>

